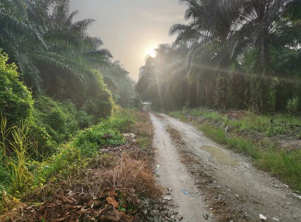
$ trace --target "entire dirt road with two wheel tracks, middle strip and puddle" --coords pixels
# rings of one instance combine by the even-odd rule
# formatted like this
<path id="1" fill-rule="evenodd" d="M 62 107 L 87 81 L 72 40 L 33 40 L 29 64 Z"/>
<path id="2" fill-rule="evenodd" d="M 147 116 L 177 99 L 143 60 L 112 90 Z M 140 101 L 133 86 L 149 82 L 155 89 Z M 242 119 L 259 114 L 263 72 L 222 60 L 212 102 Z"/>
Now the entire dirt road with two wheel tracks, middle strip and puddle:
<path id="1" fill-rule="evenodd" d="M 159 178 L 172 188 L 170 205 L 182 221 L 218 221 L 220 216 L 233 222 L 262 221 L 260 213 L 267 221 L 301 221 L 301 199 L 246 156 L 212 142 L 188 123 L 152 111 L 150 116 Z M 181 138 L 173 139 L 167 128 Z"/>

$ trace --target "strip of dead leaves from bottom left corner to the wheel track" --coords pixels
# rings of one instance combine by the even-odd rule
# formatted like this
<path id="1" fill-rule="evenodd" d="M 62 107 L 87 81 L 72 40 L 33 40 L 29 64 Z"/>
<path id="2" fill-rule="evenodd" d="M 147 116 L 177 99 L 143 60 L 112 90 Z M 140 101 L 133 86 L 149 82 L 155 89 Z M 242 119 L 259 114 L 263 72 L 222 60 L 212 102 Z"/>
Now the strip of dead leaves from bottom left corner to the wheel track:
<path id="1" fill-rule="evenodd" d="M 91 198 L 73 191 L 56 193 L 36 206 L 30 205 L 0 216 L 0 221 L 166 221 L 173 212 L 162 198 L 139 198 L 134 189 L 106 189 Z"/>

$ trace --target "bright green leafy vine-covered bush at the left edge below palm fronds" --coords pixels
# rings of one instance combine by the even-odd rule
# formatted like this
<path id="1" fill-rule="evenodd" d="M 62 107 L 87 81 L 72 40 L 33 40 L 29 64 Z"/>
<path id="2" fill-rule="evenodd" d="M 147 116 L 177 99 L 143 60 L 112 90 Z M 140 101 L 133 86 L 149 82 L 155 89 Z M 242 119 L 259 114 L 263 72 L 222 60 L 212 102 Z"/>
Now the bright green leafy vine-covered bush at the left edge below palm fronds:
<path id="1" fill-rule="evenodd" d="M 7 64 L 7 54 L 0 51 L 0 112 L 10 119 L 8 125 L 17 124 L 32 112 L 33 99 L 31 92 L 19 80 L 17 66 Z"/>

